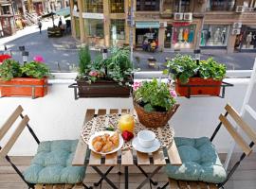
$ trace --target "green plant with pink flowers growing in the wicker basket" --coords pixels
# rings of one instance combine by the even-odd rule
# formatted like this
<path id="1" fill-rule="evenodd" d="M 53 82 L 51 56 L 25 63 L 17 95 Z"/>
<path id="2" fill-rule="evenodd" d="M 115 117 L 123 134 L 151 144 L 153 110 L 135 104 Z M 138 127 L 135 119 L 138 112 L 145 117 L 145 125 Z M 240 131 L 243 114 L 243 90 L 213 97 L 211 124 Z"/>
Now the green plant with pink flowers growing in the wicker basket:
<path id="1" fill-rule="evenodd" d="M 167 83 L 157 81 L 135 82 L 134 100 L 146 112 L 168 112 L 176 104 L 177 94 Z"/>

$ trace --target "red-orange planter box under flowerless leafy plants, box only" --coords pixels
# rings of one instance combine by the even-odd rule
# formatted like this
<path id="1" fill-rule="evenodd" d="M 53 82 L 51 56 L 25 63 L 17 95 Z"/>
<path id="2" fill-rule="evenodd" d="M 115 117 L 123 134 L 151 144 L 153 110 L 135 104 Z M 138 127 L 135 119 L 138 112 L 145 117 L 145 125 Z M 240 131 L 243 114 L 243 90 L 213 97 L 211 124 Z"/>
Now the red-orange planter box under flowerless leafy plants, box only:
<path id="1" fill-rule="evenodd" d="M 200 78 L 192 77 L 186 84 L 181 84 L 180 80 L 176 80 L 175 90 L 176 93 L 181 96 L 190 95 L 215 95 L 219 96 L 221 90 L 222 80 L 214 80 L 212 78 Z M 185 85 L 185 86 L 182 86 Z M 192 85 L 191 92 L 189 93 L 189 87 L 186 85 Z M 201 85 L 201 86 L 200 86 Z"/>

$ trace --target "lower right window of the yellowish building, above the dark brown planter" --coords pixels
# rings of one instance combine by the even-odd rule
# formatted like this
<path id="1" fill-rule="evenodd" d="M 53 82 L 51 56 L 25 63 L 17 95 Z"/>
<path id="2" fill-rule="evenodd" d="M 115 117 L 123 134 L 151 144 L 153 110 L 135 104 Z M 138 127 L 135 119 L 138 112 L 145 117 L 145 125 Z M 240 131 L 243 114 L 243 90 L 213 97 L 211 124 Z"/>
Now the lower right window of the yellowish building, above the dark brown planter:
<path id="1" fill-rule="evenodd" d="M 125 39 L 125 20 L 115 19 L 111 20 L 110 26 L 111 40 Z"/>

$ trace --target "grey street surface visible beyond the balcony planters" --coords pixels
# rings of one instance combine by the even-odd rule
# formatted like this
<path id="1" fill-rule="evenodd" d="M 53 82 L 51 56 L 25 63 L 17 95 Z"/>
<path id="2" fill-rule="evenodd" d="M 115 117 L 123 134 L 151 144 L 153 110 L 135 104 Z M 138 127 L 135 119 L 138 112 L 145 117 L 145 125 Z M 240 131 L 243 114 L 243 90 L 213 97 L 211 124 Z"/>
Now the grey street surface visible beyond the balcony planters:
<path id="1" fill-rule="evenodd" d="M 74 40 L 70 35 L 62 38 L 48 38 L 46 34 L 47 26 L 52 26 L 51 21 L 43 23 L 43 32 L 39 33 L 37 26 L 27 26 L 25 29 L 18 31 L 15 35 L 0 39 L 0 51 L 3 51 L 4 44 L 11 49 L 13 58 L 22 61 L 21 53 L 18 51 L 20 45 L 25 45 L 29 52 L 28 60 L 36 55 L 41 55 L 46 60 L 53 72 L 68 72 L 70 65 L 78 64 L 78 50 L 81 43 Z M 92 51 L 92 57 L 99 52 Z M 135 51 L 134 62 L 136 67 L 144 71 L 154 71 L 164 69 L 165 58 L 174 58 L 177 52 L 143 52 Z M 192 53 L 181 53 L 191 54 Z M 155 67 L 149 67 L 147 59 L 154 57 L 157 61 Z M 227 64 L 229 70 L 247 70 L 253 67 L 256 53 L 231 53 L 226 54 L 224 51 L 204 50 L 201 59 L 213 57 L 215 60 Z"/>

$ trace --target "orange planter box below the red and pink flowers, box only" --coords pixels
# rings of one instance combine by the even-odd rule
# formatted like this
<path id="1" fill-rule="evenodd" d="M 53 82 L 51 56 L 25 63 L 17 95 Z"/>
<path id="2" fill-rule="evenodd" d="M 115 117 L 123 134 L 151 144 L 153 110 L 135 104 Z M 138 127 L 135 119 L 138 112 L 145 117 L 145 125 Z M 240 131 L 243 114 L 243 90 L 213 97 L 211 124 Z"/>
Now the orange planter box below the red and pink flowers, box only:
<path id="1" fill-rule="evenodd" d="M 0 80 L 1 96 L 43 97 L 47 94 L 47 78 L 15 77 Z"/>

